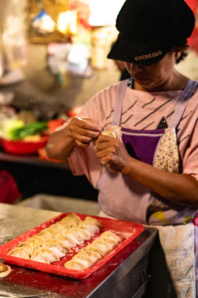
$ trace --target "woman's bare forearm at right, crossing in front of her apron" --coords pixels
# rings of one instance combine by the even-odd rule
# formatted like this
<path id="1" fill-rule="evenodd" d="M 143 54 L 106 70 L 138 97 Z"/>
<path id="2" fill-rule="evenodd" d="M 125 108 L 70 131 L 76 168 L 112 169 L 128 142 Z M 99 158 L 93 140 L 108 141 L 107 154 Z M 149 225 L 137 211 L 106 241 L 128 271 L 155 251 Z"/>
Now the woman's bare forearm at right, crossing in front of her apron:
<path id="1" fill-rule="evenodd" d="M 123 173 L 173 203 L 198 206 L 198 181 L 192 176 L 159 170 L 134 158 Z"/>

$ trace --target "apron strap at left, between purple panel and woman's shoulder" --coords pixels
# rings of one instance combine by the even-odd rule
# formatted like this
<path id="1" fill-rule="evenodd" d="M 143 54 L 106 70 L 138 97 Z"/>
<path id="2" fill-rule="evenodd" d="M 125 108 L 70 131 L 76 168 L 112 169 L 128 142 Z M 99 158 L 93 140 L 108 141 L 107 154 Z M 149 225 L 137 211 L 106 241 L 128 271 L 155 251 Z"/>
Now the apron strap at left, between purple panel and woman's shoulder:
<path id="1" fill-rule="evenodd" d="M 113 126 L 120 125 L 123 101 L 124 101 L 124 96 L 125 96 L 125 92 L 126 92 L 126 88 L 127 88 L 127 81 L 128 81 L 128 79 L 120 82 L 119 87 L 118 87 L 118 92 L 117 92 L 117 96 L 115 99 L 114 113 L 113 113 L 113 121 L 112 121 Z"/>

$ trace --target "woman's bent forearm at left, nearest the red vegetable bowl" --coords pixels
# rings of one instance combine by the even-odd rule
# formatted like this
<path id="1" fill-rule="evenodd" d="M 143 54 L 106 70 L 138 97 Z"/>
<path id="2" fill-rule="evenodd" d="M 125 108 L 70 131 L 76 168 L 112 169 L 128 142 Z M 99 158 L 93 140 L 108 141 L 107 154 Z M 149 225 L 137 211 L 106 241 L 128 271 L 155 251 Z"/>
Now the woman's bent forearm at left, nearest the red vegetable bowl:
<path id="1" fill-rule="evenodd" d="M 70 156 L 74 145 L 75 141 L 66 127 L 50 136 L 46 152 L 49 158 L 65 160 Z"/>

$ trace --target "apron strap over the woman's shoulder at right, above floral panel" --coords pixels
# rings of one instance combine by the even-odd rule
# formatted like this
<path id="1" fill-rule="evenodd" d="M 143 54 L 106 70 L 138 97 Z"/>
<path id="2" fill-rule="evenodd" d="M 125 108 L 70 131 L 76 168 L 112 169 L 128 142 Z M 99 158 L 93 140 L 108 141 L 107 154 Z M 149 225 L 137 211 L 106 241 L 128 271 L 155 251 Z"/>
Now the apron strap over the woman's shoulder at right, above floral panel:
<path id="1" fill-rule="evenodd" d="M 195 94 L 197 88 L 198 82 L 191 79 L 186 85 L 182 94 L 180 95 L 180 98 L 175 108 L 175 112 L 173 113 L 173 116 L 170 121 L 170 128 L 176 128 L 178 126 L 186 109 L 186 106 L 190 98 Z"/>

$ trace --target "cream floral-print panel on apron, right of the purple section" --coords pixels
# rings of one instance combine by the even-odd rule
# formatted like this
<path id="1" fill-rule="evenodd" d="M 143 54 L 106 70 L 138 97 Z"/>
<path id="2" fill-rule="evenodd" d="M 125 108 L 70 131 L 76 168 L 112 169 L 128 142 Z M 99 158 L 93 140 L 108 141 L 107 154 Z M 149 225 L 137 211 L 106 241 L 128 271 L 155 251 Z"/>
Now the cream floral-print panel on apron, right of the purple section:
<path id="1" fill-rule="evenodd" d="M 155 149 L 152 165 L 157 169 L 170 173 L 179 173 L 179 152 L 174 129 L 166 129 L 160 138 Z"/>

